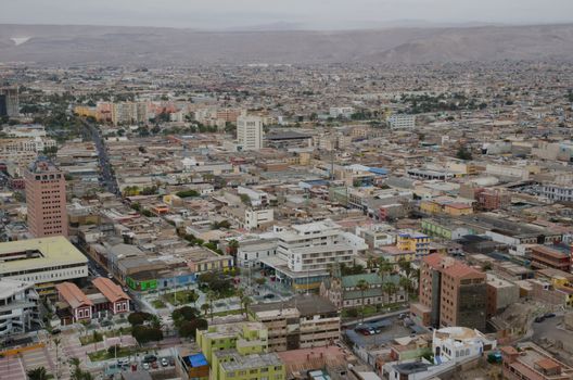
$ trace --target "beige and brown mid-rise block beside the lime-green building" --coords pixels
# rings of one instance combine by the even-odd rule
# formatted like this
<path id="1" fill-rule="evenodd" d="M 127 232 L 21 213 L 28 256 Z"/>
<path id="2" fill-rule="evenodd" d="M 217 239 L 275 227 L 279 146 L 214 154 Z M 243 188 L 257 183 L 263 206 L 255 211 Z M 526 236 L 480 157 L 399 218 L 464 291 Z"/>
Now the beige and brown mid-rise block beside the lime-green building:
<path id="1" fill-rule="evenodd" d="M 268 329 L 270 352 L 327 346 L 340 338 L 338 307 L 316 294 L 251 305 L 249 314 Z"/>

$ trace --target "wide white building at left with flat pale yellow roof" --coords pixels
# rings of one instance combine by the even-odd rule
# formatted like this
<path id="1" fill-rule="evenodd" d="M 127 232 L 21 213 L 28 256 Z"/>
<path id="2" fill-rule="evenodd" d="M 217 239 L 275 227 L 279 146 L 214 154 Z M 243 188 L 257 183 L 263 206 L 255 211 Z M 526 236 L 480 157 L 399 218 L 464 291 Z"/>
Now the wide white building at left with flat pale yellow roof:
<path id="1" fill-rule="evenodd" d="M 40 295 L 54 284 L 88 277 L 88 258 L 64 237 L 0 243 L 0 277 L 36 284 Z"/>

